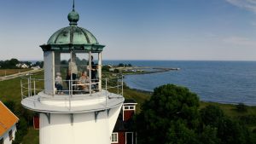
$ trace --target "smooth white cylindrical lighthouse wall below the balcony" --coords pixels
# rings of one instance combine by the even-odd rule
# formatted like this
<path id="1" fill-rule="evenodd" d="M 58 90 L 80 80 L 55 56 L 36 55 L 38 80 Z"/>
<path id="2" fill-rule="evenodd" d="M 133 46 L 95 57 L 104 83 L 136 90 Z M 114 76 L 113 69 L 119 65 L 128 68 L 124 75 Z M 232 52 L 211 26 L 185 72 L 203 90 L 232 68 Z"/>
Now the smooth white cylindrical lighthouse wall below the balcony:
<path id="1" fill-rule="evenodd" d="M 50 123 L 44 113 L 40 113 L 40 144 L 110 144 L 110 135 L 118 117 L 120 107 L 109 111 L 50 114 Z"/>

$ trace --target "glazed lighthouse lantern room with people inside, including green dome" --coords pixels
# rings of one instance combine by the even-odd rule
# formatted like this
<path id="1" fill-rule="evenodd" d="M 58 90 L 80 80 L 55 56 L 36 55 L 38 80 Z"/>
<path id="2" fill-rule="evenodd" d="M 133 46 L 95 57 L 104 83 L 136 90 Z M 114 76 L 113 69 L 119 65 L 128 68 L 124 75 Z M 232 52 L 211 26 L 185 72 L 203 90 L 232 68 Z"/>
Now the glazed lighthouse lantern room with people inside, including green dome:
<path id="1" fill-rule="evenodd" d="M 74 8 L 67 19 L 69 26 L 55 32 L 47 44 L 40 46 L 44 51 L 45 93 L 75 95 L 101 91 L 104 45 L 78 26 L 79 14 Z"/>

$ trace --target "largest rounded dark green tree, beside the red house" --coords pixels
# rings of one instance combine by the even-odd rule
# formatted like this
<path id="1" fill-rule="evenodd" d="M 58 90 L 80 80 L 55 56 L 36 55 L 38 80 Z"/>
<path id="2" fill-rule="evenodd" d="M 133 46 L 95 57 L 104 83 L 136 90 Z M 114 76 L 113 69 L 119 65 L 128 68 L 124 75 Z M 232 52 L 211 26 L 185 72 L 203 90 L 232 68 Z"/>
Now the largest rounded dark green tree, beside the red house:
<path id="1" fill-rule="evenodd" d="M 138 143 L 197 143 L 198 108 L 199 98 L 189 89 L 173 84 L 155 88 L 136 117 Z"/>

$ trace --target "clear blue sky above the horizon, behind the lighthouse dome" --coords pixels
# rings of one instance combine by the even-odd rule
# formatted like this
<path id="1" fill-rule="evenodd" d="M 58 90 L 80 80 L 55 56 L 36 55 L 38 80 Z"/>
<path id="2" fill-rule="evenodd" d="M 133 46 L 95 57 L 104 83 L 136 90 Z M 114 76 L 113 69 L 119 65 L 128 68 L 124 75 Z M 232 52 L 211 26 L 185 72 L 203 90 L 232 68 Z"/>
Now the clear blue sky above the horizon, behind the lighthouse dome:
<path id="1" fill-rule="evenodd" d="M 43 60 L 73 0 L 1 0 L 0 60 Z M 75 0 L 103 60 L 256 60 L 256 0 Z"/>

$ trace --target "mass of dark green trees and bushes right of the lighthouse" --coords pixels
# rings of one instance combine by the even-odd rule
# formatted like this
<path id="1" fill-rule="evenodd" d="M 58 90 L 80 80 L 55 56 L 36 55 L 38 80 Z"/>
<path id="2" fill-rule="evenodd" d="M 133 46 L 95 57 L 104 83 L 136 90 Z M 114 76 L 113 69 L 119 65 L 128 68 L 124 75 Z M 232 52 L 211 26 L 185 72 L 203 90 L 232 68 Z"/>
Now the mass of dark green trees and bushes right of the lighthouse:
<path id="1" fill-rule="evenodd" d="M 235 111 L 240 109 L 235 107 Z M 135 124 L 139 144 L 256 143 L 255 130 L 248 129 L 247 121 L 229 117 L 216 105 L 200 108 L 196 94 L 173 84 L 154 89 L 151 98 L 143 103 L 142 112 L 137 114 Z M 161 135 L 155 135 L 158 132 Z"/>

